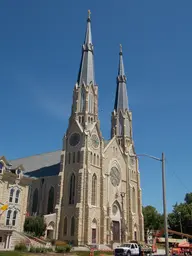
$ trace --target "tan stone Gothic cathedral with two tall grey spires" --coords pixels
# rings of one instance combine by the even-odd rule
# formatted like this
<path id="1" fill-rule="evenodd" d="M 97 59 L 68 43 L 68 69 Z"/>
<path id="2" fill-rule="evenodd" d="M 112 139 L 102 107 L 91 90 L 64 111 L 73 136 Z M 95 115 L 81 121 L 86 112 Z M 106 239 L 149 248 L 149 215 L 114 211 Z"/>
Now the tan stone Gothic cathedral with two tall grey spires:
<path id="1" fill-rule="evenodd" d="M 44 215 L 45 236 L 50 239 L 77 246 L 144 240 L 140 173 L 121 46 L 116 84 L 111 138 L 105 140 L 98 116 L 99 86 L 88 12 L 62 149 L 10 161 L 22 165 L 32 178 L 28 212 Z"/>

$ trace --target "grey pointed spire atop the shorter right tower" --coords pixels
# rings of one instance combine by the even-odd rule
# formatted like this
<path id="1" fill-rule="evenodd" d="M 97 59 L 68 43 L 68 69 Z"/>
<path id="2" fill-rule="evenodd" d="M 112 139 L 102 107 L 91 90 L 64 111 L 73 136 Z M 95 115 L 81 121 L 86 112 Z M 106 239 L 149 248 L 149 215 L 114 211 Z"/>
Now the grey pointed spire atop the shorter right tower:
<path id="1" fill-rule="evenodd" d="M 123 51 L 122 45 L 120 44 L 119 51 L 119 69 L 117 76 L 117 89 L 115 96 L 115 105 L 114 109 L 116 111 L 126 109 L 128 110 L 128 96 L 127 96 L 127 86 L 126 86 L 127 78 L 125 76 L 124 64 L 123 64 Z"/>

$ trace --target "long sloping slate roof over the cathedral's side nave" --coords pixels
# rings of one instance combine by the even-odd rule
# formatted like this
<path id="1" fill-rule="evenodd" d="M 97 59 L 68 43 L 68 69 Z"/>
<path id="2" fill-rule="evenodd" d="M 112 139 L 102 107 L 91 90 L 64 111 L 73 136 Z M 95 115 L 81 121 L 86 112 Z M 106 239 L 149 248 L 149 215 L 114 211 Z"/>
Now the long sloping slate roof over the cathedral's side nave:
<path id="1" fill-rule="evenodd" d="M 33 177 L 58 175 L 61 150 L 10 160 L 13 166 L 23 165 L 25 174 Z"/>

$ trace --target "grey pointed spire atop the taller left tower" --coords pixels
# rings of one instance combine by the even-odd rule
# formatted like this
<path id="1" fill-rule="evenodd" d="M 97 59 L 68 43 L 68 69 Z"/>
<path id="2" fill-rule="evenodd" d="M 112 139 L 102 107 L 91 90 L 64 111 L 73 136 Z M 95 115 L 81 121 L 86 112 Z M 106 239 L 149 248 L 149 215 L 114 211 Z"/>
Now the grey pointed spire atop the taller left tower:
<path id="1" fill-rule="evenodd" d="M 89 10 L 87 18 L 87 29 L 85 33 L 85 41 L 82 47 L 82 57 L 77 80 L 79 86 L 81 86 L 83 83 L 85 83 L 85 85 L 89 85 L 90 83 L 95 85 L 94 56 L 90 16 L 91 12 Z"/>

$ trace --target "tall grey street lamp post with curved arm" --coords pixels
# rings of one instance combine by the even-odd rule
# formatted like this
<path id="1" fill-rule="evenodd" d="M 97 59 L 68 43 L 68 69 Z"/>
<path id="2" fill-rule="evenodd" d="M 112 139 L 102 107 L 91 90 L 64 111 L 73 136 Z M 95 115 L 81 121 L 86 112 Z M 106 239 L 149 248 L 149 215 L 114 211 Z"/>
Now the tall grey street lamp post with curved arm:
<path id="1" fill-rule="evenodd" d="M 136 156 L 145 156 L 152 158 L 162 163 L 162 189 L 163 189 L 163 215 L 164 215 L 164 231 L 165 231 L 165 255 L 169 255 L 169 241 L 168 241 L 168 225 L 167 225 L 167 205 L 166 205 L 166 183 L 165 183 L 165 155 L 162 153 L 162 157 L 158 158 L 147 154 L 138 154 Z"/>

